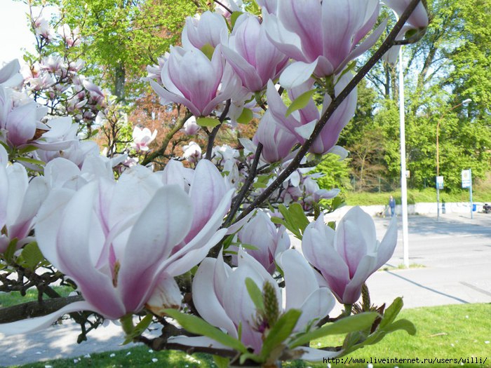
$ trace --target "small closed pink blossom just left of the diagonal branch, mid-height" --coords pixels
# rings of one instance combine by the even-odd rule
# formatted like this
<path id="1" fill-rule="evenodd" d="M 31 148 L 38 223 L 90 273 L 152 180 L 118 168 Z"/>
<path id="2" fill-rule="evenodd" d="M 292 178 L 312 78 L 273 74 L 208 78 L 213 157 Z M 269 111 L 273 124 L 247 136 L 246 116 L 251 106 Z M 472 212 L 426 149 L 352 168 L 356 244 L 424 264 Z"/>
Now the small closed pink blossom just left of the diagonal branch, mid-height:
<path id="1" fill-rule="evenodd" d="M 295 135 L 276 123 L 269 110 L 262 116 L 253 137 L 254 144 L 262 144 L 261 157 L 267 163 L 274 163 L 286 158 L 297 142 Z"/>

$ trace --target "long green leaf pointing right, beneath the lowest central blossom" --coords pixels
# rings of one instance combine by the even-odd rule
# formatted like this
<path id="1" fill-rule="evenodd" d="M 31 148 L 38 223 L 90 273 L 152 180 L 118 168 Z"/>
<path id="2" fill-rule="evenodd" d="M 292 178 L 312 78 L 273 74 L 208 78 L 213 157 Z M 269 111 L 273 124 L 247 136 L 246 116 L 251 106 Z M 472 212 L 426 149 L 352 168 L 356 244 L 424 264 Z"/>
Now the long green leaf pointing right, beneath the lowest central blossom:
<path id="1" fill-rule="evenodd" d="M 364 329 L 368 329 L 372 326 L 373 321 L 375 321 L 375 318 L 377 318 L 377 315 L 378 313 L 375 312 L 365 312 L 342 318 L 334 323 L 329 323 L 321 328 L 307 332 L 307 334 L 303 334 L 298 339 L 295 339 L 290 343 L 290 348 L 296 348 L 297 346 L 304 345 L 309 343 L 311 340 L 320 339 L 324 336 L 363 331 Z"/>

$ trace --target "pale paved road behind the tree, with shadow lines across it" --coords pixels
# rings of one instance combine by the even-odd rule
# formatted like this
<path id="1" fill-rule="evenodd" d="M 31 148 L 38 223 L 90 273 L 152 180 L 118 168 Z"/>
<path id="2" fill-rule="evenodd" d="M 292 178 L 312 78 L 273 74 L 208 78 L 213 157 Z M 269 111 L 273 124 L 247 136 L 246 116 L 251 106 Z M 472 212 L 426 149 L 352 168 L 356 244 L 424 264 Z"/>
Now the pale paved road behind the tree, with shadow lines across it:
<path id="1" fill-rule="evenodd" d="M 389 219 L 375 219 L 382 238 Z M 402 296 L 406 308 L 491 302 L 491 214 L 445 214 L 409 219 L 410 264 L 424 268 L 379 271 L 368 281 L 375 304 Z M 399 240 L 388 264 L 403 263 L 401 223 Z M 119 348 L 119 327 L 109 325 L 76 345 L 78 330 L 67 323 L 38 334 L 4 337 L 0 334 L 0 366 L 26 364 L 58 357 L 77 357 Z"/>

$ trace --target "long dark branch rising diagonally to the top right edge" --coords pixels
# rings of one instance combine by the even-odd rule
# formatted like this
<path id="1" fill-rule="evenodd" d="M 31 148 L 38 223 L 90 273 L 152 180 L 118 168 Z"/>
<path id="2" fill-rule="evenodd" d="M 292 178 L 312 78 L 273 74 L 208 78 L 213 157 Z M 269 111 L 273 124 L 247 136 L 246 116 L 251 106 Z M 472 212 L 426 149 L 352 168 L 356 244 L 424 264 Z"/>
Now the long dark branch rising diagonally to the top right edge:
<path id="1" fill-rule="evenodd" d="M 406 20 L 410 17 L 411 13 L 415 10 L 417 4 L 419 4 L 419 1 L 421 0 L 412 0 L 410 4 L 408 5 L 408 8 L 405 9 L 404 13 L 401 15 L 399 18 L 398 22 L 394 26 L 394 28 L 391 30 L 389 35 L 386 37 L 384 42 L 382 43 L 382 46 L 380 46 L 375 53 L 370 57 L 368 62 L 366 62 L 363 67 L 358 71 L 358 73 L 354 76 L 353 79 L 348 83 L 348 85 L 342 90 L 341 93 L 335 98 L 332 99 L 331 104 L 329 107 L 325 110 L 323 116 L 319 119 L 319 121 L 316 124 L 316 127 L 314 128 L 314 132 L 312 132 L 311 136 L 309 139 L 307 139 L 304 144 L 300 147 L 300 150 L 298 151 L 297 155 L 295 158 L 292 159 L 290 164 L 288 165 L 283 172 L 276 177 L 274 182 L 272 182 L 264 191 L 253 200 L 253 202 L 246 207 L 243 212 L 236 218 L 235 222 L 238 222 L 240 219 L 243 219 L 245 216 L 247 216 L 250 212 L 255 210 L 255 208 L 259 207 L 264 200 L 267 200 L 269 196 L 280 186 L 285 179 L 287 179 L 292 172 L 297 170 L 297 168 L 300 166 L 300 163 L 302 161 L 302 158 L 307 154 L 309 151 L 311 145 L 314 143 L 316 138 L 318 137 L 319 134 L 321 134 L 321 130 L 324 128 L 324 125 L 328 122 L 329 118 L 334 114 L 336 111 L 337 107 L 348 97 L 348 95 L 351 93 L 354 88 L 358 85 L 358 83 L 361 82 L 361 80 L 365 77 L 366 74 L 368 74 L 368 71 L 372 69 L 372 67 L 375 66 L 375 64 L 382 59 L 382 56 L 392 47 L 394 46 L 394 41 L 396 41 L 396 36 L 398 36 L 399 32 L 401 31 L 403 25 L 405 24 Z"/>

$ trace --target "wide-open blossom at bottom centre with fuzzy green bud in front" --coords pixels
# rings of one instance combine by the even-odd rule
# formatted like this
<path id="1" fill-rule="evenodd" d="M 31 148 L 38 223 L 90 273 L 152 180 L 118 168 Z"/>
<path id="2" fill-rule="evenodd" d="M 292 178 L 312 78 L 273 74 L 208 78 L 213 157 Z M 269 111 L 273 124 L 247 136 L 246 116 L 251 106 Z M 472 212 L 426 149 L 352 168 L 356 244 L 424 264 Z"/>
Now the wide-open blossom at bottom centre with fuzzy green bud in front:
<path id="1" fill-rule="evenodd" d="M 293 332 L 302 332 L 311 322 L 325 317 L 335 304 L 335 299 L 327 287 L 319 287 L 314 270 L 296 250 L 286 250 L 278 255 L 285 277 L 285 297 L 281 295 L 278 282 L 253 257 L 240 249 L 238 267 L 231 268 L 224 263 L 222 254 L 206 258 L 196 271 L 193 280 L 193 302 L 201 318 L 227 334 L 238 338 L 241 331 L 241 342 L 250 347 L 253 353 L 260 353 L 267 332 L 272 327 L 271 321 L 258 313 L 250 298 L 245 280 L 250 278 L 259 289 L 269 283 L 274 289 L 278 301 L 278 313 L 291 308 L 302 311 Z M 284 303 L 282 303 L 284 301 Z M 173 337 L 169 342 L 182 343 L 188 346 L 211 346 L 230 349 L 208 337 Z M 288 339 L 287 339 L 288 341 Z M 315 360 L 333 357 L 338 352 L 327 352 L 314 348 L 296 348 L 303 359 Z M 322 354 L 318 354 L 322 353 Z"/>

